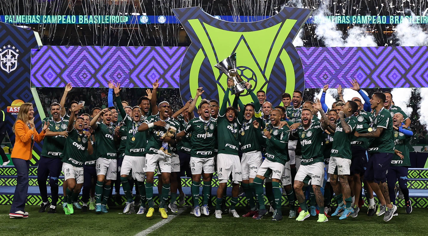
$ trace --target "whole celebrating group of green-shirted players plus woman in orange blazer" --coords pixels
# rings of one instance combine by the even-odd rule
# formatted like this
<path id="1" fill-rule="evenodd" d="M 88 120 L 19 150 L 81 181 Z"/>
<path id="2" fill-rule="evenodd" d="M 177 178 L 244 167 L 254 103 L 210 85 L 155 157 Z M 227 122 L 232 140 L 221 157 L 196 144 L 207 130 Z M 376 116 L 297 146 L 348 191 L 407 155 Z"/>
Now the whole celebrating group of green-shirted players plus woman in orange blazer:
<path id="1" fill-rule="evenodd" d="M 166 219 L 168 212 L 178 214 L 178 206 L 185 205 L 181 177 L 191 178 L 190 214 L 195 217 L 280 221 L 287 215 L 296 221 L 327 222 L 366 214 L 390 221 L 398 215 L 397 191 L 404 196 L 406 213 L 412 212 L 407 189 L 411 121 L 393 105 L 390 92 L 367 96 L 354 80 L 351 88 L 360 96 L 348 101 L 341 87 L 328 85 L 314 101 L 305 100 L 299 90 L 268 101 L 265 91 L 253 91 L 248 82 L 240 85 L 243 89 L 237 91 L 239 86 L 229 79 L 221 101 L 197 88 L 174 111 L 171 101 L 157 100 L 158 81 L 137 104 L 122 100 L 120 84 L 112 81 L 108 104 L 96 104 L 91 114 L 82 114 L 84 101 L 65 104 L 73 88 L 68 84 L 59 103 L 51 103 L 42 127 L 35 127 L 33 104 L 24 103 L 13 127 L 11 157 L 18 185 L 9 217 L 30 215 L 25 211 L 29 151 L 42 141 L 39 212 L 48 214 L 106 214 L 107 203 L 122 198 L 122 188 L 123 214 Z M 339 95 L 331 107 L 325 103 L 328 89 L 337 89 Z M 241 101 L 245 93 L 252 102 Z M 62 175 L 64 200 L 56 206 Z M 363 194 L 367 212 L 361 209 Z M 282 196 L 288 212 L 282 209 Z M 235 209 L 238 197 L 247 204 L 244 215 Z"/>

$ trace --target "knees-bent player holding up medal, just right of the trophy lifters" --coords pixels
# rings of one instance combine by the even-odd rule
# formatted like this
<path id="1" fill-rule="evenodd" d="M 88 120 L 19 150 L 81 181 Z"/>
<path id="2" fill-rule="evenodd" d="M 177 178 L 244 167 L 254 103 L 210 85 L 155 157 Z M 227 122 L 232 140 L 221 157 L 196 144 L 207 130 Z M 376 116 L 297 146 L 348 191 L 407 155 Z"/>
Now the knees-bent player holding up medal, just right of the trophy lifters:
<path id="1" fill-rule="evenodd" d="M 281 115 L 282 114 L 278 109 L 273 109 L 270 112 L 270 124 L 268 124 L 264 130 L 264 136 L 266 137 L 266 159 L 259 167 L 256 178 L 254 179 L 256 197 L 260 206 L 259 215 L 256 220 L 262 219 L 268 213 L 268 210 L 266 210 L 265 207 L 265 199 L 263 197 L 263 180 L 266 178 L 272 179 L 273 196 L 277 210 L 272 221 L 280 221 L 282 219 L 282 196 L 279 182 L 281 181 L 284 164 L 289 160 L 289 157 L 287 150 L 288 127 L 278 127 Z M 258 129 L 260 124 L 257 121 L 254 121 L 253 125 L 254 128 Z"/>

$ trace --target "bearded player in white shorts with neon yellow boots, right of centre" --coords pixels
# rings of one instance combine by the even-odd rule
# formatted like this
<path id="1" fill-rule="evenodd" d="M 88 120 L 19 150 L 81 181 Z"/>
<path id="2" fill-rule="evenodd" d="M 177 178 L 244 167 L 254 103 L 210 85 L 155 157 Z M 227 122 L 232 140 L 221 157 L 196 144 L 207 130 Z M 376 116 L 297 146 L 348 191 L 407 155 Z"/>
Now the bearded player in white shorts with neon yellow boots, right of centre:
<path id="1" fill-rule="evenodd" d="M 321 103 L 318 103 L 315 108 L 322 109 Z M 327 216 L 324 215 L 324 197 L 321 194 L 324 181 L 324 156 L 321 145 L 325 127 L 321 127 L 319 121 L 312 122 L 312 111 L 308 108 L 302 109 L 301 117 L 302 126 L 291 133 L 299 140 L 302 147 L 302 161 L 294 177 L 294 191 L 302 209 L 296 221 L 303 221 L 310 216 L 302 188 L 304 185 L 312 185 L 320 209 L 317 222 L 327 222 Z"/>

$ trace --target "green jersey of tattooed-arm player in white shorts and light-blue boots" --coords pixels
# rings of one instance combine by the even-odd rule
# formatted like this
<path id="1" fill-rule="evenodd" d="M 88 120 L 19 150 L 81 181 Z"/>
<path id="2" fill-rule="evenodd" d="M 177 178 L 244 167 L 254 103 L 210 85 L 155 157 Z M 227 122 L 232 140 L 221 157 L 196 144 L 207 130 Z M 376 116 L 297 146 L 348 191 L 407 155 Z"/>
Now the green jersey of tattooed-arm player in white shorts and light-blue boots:
<path id="1" fill-rule="evenodd" d="M 339 118 L 334 133 L 333 146 L 331 147 L 331 156 L 352 159 L 351 140 L 354 136 L 355 127 L 357 127 L 357 117 L 354 115 L 347 117 L 345 118 L 345 123 L 351 126 L 351 132 L 345 133 Z"/>

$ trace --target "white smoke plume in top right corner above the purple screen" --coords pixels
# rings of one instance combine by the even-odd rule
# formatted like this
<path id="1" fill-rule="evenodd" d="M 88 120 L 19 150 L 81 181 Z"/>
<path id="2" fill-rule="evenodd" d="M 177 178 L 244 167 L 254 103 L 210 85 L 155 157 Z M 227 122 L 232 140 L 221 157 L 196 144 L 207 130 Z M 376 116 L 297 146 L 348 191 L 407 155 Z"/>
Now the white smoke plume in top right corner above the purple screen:
<path id="1" fill-rule="evenodd" d="M 410 11 L 407 9 L 407 11 Z M 410 11 L 413 17 L 416 17 Z M 425 46 L 428 45 L 428 34 L 425 33 L 419 24 L 411 24 L 407 18 L 397 25 L 394 36 L 400 46 Z"/>

